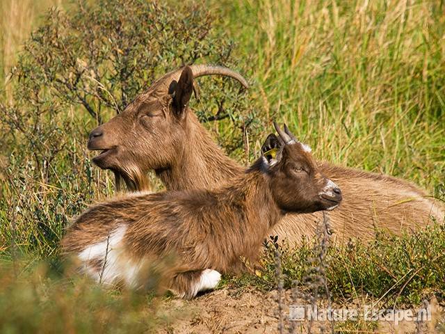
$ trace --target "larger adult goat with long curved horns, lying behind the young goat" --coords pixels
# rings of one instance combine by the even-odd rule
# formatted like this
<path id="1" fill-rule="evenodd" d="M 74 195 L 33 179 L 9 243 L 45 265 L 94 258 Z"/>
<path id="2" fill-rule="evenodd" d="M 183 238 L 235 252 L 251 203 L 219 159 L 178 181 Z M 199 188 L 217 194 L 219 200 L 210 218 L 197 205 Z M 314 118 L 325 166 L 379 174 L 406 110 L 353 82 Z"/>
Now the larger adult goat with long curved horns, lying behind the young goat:
<path id="1" fill-rule="evenodd" d="M 122 175 L 133 190 L 145 189 L 149 170 L 174 190 L 212 188 L 243 173 L 187 107 L 193 79 L 207 74 L 229 75 L 247 86 L 239 74 L 224 67 L 193 65 L 165 74 L 120 115 L 91 132 L 88 148 L 104 151 L 93 159 L 95 164 Z M 414 184 L 328 163 L 320 168 L 343 191 L 341 207 L 330 213 L 332 230 L 341 242 L 372 239 L 375 228 L 399 234 L 403 228 L 423 228 L 430 216 L 444 219 L 443 205 Z M 288 215 L 273 233 L 298 243 L 314 234 L 320 220 L 320 213 Z"/>

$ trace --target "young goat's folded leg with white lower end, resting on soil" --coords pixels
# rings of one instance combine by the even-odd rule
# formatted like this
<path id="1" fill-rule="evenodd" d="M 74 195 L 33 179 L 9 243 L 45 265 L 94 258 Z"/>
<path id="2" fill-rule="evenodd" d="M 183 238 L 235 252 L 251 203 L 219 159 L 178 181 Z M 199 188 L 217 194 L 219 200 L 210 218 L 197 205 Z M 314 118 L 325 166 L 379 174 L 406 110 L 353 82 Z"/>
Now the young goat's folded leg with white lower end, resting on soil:
<path id="1" fill-rule="evenodd" d="M 213 269 L 177 273 L 170 287 L 181 298 L 192 299 L 198 292 L 215 289 L 221 274 Z"/>

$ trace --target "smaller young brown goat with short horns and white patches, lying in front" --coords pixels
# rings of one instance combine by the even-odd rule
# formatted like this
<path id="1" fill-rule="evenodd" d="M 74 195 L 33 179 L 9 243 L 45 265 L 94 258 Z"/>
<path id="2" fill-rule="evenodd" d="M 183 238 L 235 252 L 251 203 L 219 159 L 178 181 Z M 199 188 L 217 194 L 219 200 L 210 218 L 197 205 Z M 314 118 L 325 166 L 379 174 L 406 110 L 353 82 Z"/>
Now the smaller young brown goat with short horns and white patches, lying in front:
<path id="1" fill-rule="evenodd" d="M 275 125 L 258 159 L 229 185 L 213 191 L 136 193 L 95 205 L 64 237 L 97 281 L 141 287 L 143 268 L 158 269 L 165 287 L 191 298 L 213 289 L 220 273 L 254 263 L 261 242 L 286 212 L 330 210 L 341 191 L 322 175 L 305 145 Z"/>

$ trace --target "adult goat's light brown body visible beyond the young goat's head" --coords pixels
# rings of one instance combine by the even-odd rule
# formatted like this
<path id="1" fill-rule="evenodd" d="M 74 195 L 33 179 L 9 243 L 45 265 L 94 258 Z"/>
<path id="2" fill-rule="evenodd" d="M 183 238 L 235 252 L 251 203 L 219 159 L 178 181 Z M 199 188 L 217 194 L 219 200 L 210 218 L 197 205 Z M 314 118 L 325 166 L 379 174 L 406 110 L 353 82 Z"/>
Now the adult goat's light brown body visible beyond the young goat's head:
<path id="1" fill-rule="evenodd" d="M 329 212 L 334 239 L 341 243 L 348 239 L 369 241 L 376 229 L 394 234 L 419 230 L 431 223 L 431 216 L 444 222 L 444 204 L 410 182 L 327 163 L 321 164 L 321 170 L 343 194 L 341 205 Z M 322 219 L 321 212 L 287 215 L 270 234 L 299 244 L 302 238 L 314 236 Z"/>

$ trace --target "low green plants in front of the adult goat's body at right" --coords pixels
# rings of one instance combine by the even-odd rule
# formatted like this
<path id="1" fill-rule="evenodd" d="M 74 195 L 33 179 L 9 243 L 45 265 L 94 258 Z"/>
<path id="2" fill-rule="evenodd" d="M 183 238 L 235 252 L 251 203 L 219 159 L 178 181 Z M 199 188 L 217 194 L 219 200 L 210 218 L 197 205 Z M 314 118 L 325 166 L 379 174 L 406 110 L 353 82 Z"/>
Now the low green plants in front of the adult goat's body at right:
<path id="1" fill-rule="evenodd" d="M 264 268 L 242 278 L 228 278 L 226 284 L 237 288 L 274 289 L 278 251 L 285 289 L 297 287 L 308 292 L 308 281 L 314 282 L 322 276 L 327 280 L 332 300 L 339 305 L 357 301 L 362 296 L 386 307 L 419 305 L 432 296 L 443 300 L 444 232 L 444 226 L 438 224 L 401 237 L 379 232 L 367 245 L 357 241 L 343 246 L 329 245 L 323 263 L 316 241 L 293 250 L 269 240 L 262 258 Z M 323 266 L 326 266 L 324 274 Z"/>

